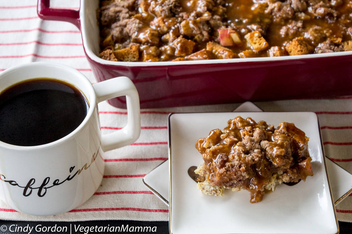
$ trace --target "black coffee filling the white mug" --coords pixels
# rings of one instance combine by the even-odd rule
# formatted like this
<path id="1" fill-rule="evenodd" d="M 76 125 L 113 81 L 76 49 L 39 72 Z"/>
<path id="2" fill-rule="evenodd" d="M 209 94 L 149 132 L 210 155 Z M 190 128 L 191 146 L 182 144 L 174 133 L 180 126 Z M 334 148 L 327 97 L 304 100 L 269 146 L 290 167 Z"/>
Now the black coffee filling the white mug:
<path id="1" fill-rule="evenodd" d="M 49 78 L 17 83 L 0 93 L 0 141 L 37 146 L 73 132 L 89 104 L 73 85 Z"/>

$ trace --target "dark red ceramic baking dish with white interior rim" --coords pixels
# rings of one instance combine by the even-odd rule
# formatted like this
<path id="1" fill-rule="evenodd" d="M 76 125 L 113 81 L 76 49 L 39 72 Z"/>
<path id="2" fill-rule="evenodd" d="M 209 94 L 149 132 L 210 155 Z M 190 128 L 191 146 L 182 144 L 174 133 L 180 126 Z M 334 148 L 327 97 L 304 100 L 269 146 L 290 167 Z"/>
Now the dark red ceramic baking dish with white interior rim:
<path id="1" fill-rule="evenodd" d="M 138 89 L 141 108 L 352 94 L 352 51 L 200 61 L 107 61 L 98 56 L 98 0 L 81 0 L 78 11 L 49 5 L 49 0 L 38 0 L 39 17 L 76 25 L 98 81 L 129 77 Z M 122 98 L 109 103 L 125 108 Z"/>

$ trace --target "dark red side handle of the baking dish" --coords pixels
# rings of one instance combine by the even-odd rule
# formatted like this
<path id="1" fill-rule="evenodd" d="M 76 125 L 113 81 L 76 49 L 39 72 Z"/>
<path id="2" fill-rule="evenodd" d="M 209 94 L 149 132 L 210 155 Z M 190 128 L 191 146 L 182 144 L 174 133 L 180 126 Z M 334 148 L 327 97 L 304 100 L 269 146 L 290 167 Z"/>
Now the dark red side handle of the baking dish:
<path id="1" fill-rule="evenodd" d="M 71 9 L 50 8 L 50 0 L 38 0 L 37 13 L 43 20 L 70 22 L 80 29 L 80 11 Z"/>

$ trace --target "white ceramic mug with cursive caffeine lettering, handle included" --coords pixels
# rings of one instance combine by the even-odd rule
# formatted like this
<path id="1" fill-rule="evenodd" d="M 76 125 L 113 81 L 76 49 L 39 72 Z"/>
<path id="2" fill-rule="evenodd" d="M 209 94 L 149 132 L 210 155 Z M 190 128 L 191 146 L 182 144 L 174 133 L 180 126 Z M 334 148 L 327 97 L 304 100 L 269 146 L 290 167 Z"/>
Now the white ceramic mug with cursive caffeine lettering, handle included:
<path id="1" fill-rule="evenodd" d="M 32 62 L 0 73 L 0 92 L 33 78 L 54 78 L 74 85 L 87 98 L 83 122 L 67 136 L 39 146 L 15 146 L 0 141 L 0 198 L 13 209 L 32 215 L 67 212 L 87 201 L 104 173 L 103 151 L 129 145 L 140 134 L 139 97 L 127 77 L 95 83 L 76 69 Z M 126 95 L 127 124 L 101 135 L 98 102 Z"/>

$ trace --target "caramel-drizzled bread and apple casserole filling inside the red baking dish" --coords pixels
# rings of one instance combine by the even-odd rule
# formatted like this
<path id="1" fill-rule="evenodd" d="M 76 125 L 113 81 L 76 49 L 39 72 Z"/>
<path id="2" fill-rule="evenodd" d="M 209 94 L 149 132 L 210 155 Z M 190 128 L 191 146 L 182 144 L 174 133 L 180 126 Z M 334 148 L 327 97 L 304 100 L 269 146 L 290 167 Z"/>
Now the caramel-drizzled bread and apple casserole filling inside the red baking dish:
<path id="1" fill-rule="evenodd" d="M 100 58 L 182 61 L 352 50 L 350 0 L 105 0 Z"/>

